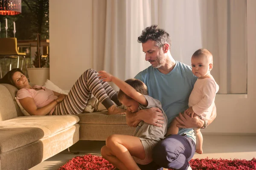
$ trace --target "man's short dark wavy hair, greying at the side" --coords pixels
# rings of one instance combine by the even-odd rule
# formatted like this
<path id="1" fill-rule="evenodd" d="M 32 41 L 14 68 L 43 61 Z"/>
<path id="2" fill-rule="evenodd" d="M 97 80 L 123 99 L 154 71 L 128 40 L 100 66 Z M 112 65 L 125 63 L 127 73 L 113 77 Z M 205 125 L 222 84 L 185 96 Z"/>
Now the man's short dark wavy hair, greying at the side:
<path id="1" fill-rule="evenodd" d="M 157 25 L 146 27 L 140 34 L 140 37 L 138 37 L 138 42 L 140 43 L 145 43 L 148 40 L 156 41 L 158 48 L 163 47 L 163 45 L 166 43 L 169 44 L 170 47 L 172 46 L 172 41 L 169 34 L 164 29 L 159 28 Z"/>

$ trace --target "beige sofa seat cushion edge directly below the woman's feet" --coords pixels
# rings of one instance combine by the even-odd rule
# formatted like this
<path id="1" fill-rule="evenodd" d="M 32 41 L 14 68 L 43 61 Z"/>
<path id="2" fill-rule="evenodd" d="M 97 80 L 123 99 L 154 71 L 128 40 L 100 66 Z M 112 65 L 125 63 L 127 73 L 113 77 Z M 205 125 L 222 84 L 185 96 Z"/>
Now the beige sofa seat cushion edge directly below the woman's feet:
<path id="1" fill-rule="evenodd" d="M 107 112 L 78 114 L 79 124 L 126 125 L 125 114 L 108 115 Z"/>

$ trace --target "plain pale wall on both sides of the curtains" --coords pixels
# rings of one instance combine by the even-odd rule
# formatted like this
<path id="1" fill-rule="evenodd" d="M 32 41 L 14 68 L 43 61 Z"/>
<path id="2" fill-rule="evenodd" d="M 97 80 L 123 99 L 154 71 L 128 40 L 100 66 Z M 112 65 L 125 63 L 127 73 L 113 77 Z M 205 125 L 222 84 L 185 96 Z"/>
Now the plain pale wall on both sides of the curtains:
<path id="1" fill-rule="evenodd" d="M 92 0 L 72 2 L 76 4 L 70 0 L 49 1 L 50 79 L 64 89 L 70 89 L 93 65 Z M 203 133 L 256 133 L 255 30 L 256 1 L 247 0 L 248 94 L 217 95 L 217 118 Z"/>

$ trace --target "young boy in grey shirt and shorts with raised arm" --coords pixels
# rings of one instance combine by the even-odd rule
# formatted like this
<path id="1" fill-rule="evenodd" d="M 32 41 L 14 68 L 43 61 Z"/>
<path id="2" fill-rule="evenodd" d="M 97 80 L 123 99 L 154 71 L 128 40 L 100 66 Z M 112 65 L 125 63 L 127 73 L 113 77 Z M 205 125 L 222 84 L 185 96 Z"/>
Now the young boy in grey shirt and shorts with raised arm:
<path id="1" fill-rule="evenodd" d="M 156 127 L 145 122 L 140 122 L 133 136 L 111 135 L 102 147 L 102 157 L 110 161 L 119 170 L 140 170 L 138 164 L 149 164 L 152 161 L 154 146 L 164 138 L 167 131 L 167 116 L 161 103 L 148 96 L 148 88 L 138 79 L 128 79 L 125 82 L 99 71 L 99 79 L 105 82 L 114 82 L 119 88 L 119 101 L 127 107 L 129 112 L 157 107 L 163 112 L 163 127 Z"/>

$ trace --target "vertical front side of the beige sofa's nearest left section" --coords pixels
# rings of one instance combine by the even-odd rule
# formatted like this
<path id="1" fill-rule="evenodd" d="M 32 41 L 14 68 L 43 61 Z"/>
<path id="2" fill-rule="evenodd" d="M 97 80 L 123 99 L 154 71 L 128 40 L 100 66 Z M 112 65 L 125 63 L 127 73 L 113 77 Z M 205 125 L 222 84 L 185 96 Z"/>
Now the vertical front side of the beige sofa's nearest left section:
<path id="1" fill-rule="evenodd" d="M 0 170 L 30 170 L 30 168 L 67 149 L 77 141 L 79 141 L 78 124 L 9 152 L 0 153 Z M 32 169 L 52 170 L 57 168 L 50 166 Z"/>

